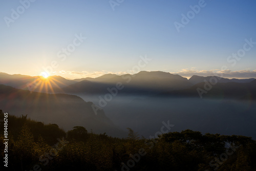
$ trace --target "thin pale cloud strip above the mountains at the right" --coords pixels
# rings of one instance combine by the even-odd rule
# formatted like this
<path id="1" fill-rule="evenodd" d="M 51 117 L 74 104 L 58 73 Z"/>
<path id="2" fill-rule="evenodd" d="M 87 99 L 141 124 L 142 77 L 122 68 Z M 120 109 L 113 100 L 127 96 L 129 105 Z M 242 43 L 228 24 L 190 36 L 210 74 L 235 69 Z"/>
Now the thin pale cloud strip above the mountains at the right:
<path id="1" fill-rule="evenodd" d="M 239 78 L 239 79 L 246 79 L 246 78 L 256 78 L 256 70 L 240 70 L 240 71 L 231 71 L 231 70 L 195 70 L 193 69 L 182 69 L 179 72 L 173 72 L 172 74 L 178 74 L 183 77 L 190 78 L 193 75 L 198 76 L 220 76 L 223 75 L 224 78 Z"/>

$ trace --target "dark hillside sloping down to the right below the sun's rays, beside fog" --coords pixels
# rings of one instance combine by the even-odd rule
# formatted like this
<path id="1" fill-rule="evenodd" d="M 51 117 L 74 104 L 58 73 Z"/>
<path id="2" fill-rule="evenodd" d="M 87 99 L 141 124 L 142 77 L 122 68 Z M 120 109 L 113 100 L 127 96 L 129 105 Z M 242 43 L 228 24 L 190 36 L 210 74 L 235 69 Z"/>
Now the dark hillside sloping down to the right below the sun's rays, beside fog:
<path id="1" fill-rule="evenodd" d="M 67 94 L 46 94 L 15 89 L 0 85 L 0 107 L 12 115 L 28 115 L 29 118 L 45 123 L 56 123 L 65 130 L 74 126 L 84 126 L 95 133 L 121 136 L 104 111 L 92 107 L 80 97 Z"/>

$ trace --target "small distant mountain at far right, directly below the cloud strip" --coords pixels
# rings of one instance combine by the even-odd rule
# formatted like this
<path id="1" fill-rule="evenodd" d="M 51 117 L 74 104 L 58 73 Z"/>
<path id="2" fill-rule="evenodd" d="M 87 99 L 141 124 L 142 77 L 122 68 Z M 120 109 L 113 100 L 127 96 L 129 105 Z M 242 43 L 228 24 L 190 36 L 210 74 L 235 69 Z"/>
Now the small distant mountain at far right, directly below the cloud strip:
<path id="1" fill-rule="evenodd" d="M 204 82 L 204 80 L 206 81 L 210 81 L 212 77 L 216 77 L 218 79 L 218 82 L 239 82 L 239 83 L 246 83 L 246 82 L 251 82 L 253 80 L 255 80 L 254 78 L 249 78 L 249 79 L 228 79 L 228 78 L 222 78 L 222 77 L 218 77 L 218 76 L 207 76 L 207 77 L 203 77 L 203 76 L 197 76 L 197 75 L 193 75 L 191 78 L 188 79 L 189 82 L 193 83 L 193 84 L 197 84 L 200 82 Z M 214 81 L 214 80 L 213 80 Z"/>

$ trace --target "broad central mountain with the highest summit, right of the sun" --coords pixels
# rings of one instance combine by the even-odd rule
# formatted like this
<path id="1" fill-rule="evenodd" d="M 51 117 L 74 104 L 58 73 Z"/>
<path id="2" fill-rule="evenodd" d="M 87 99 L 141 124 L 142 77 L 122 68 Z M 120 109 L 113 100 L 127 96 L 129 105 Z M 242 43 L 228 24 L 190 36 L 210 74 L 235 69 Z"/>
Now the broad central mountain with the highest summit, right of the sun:
<path id="1" fill-rule="evenodd" d="M 82 81 L 62 88 L 66 93 L 108 93 L 108 88 L 115 88 L 117 83 L 122 84 L 124 89 L 120 93 L 148 94 L 185 89 L 192 86 L 187 78 L 166 72 L 146 72 L 137 74 L 106 74 L 97 78 L 82 78 Z M 77 81 L 77 80 L 76 80 Z"/>

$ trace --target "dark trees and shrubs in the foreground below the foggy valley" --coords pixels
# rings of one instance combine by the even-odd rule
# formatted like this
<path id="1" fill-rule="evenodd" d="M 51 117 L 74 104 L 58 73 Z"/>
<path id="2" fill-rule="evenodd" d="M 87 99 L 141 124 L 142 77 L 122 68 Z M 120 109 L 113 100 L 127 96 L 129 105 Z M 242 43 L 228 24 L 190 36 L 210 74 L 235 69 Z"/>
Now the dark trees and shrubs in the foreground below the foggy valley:
<path id="1" fill-rule="evenodd" d="M 9 115 L 8 138 L 8 170 L 256 170 L 256 142 L 244 136 L 185 130 L 145 139 L 129 129 L 120 139 Z"/>

